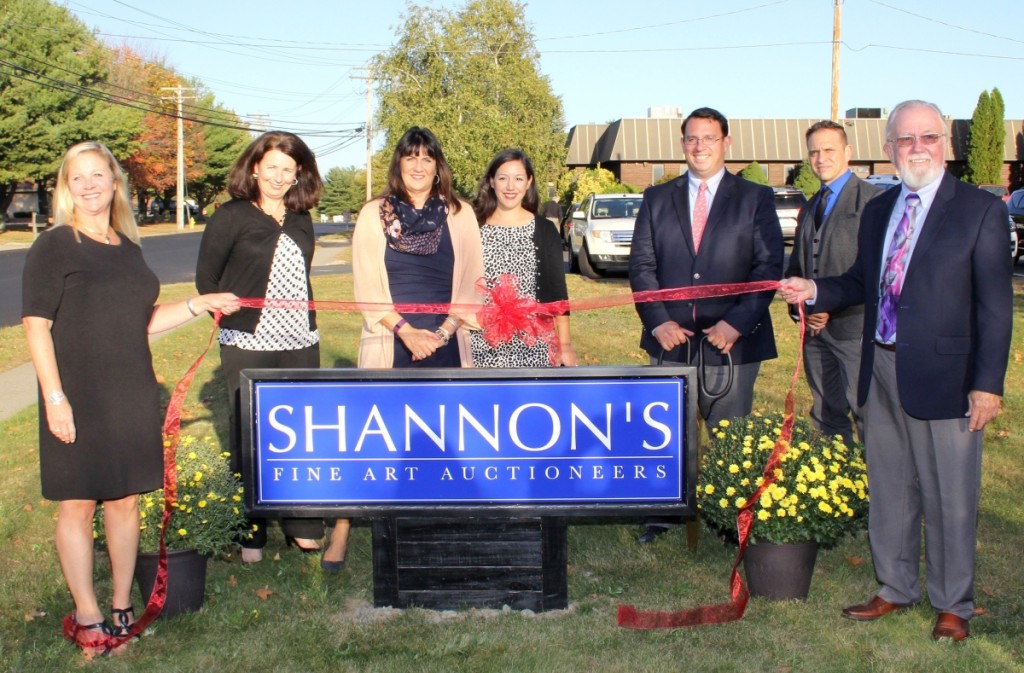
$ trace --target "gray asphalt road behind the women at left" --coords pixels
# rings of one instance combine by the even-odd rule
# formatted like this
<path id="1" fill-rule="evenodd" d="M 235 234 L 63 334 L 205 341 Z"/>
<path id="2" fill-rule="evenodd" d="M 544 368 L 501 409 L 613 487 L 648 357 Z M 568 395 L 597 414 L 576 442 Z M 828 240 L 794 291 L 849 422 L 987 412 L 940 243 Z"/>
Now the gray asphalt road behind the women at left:
<path id="1" fill-rule="evenodd" d="M 344 230 L 342 224 L 314 224 L 316 237 Z M 196 258 L 202 233 L 154 236 L 142 239 L 142 256 L 160 279 L 161 285 L 191 283 L 196 280 Z M 0 327 L 22 323 L 22 271 L 28 249 L 0 252 Z M 313 275 L 348 272 L 347 265 L 321 265 Z"/>

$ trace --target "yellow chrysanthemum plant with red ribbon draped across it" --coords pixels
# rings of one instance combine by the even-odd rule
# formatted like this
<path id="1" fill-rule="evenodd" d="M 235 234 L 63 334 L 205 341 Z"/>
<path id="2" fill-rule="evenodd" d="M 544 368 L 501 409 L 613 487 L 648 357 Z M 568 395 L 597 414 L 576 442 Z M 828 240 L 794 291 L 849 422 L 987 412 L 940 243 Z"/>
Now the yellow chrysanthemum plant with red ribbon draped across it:
<path id="1" fill-rule="evenodd" d="M 697 508 L 714 529 L 736 535 L 740 508 L 764 482 L 782 431 L 782 414 L 754 414 L 709 428 Z M 867 520 L 867 468 L 860 445 L 817 432 L 797 418 L 775 480 L 752 506 L 751 542 L 835 545 Z"/>

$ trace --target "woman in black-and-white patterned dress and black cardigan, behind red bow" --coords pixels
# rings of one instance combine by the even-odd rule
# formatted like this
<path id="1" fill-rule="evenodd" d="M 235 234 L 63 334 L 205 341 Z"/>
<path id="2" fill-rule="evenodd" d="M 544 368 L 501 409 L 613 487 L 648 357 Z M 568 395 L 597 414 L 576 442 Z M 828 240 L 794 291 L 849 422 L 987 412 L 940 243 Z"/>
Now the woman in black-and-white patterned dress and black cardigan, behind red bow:
<path id="1" fill-rule="evenodd" d="M 538 215 L 540 198 L 534 167 L 520 150 L 504 150 L 480 180 L 473 208 L 480 224 L 483 270 L 494 283 L 505 274 L 519 281 L 519 292 L 541 303 L 568 299 L 562 241 L 558 226 Z M 574 367 L 568 313 L 555 318 L 558 353 L 552 362 L 548 343 L 532 345 L 515 336 L 492 346 L 479 332 L 470 335 L 474 367 Z"/>

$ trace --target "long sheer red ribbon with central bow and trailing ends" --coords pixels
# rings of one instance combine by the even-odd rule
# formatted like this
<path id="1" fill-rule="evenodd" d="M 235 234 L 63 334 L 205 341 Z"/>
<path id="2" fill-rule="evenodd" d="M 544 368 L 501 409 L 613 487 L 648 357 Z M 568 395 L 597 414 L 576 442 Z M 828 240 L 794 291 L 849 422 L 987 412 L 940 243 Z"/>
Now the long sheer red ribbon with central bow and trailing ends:
<path id="1" fill-rule="evenodd" d="M 527 345 L 532 345 L 538 340 L 543 340 L 548 343 L 552 363 L 555 363 L 558 355 L 558 342 L 554 334 L 554 318 L 556 316 L 563 316 L 570 310 L 593 310 L 596 308 L 654 301 L 686 301 L 756 292 L 774 292 L 778 288 L 778 281 L 757 281 L 753 283 L 670 288 L 667 290 L 645 290 L 632 294 L 540 303 L 532 298 L 519 294 L 519 283 L 514 276 L 503 275 L 493 284 L 488 284 L 485 279 L 477 282 L 477 289 L 487 298 L 482 306 L 480 304 L 455 303 L 307 301 L 300 299 L 265 298 L 243 298 L 240 300 L 240 303 L 242 306 L 248 308 L 299 310 L 373 311 L 393 309 L 400 313 L 447 313 L 453 309 L 462 310 L 467 313 L 476 313 L 480 327 L 483 330 L 483 338 L 492 346 L 508 343 L 516 335 Z M 215 316 L 214 322 L 214 330 L 210 334 L 210 340 L 207 343 L 206 349 L 200 354 L 199 359 L 193 364 L 181 380 L 178 381 L 167 407 L 167 416 L 164 421 L 164 518 L 160 530 L 160 560 L 157 566 L 157 579 L 153 586 L 153 593 L 150 595 L 145 612 L 132 625 L 129 634 L 122 638 L 113 639 L 111 641 L 112 647 L 120 645 L 136 633 L 144 630 L 160 615 L 167 599 L 167 548 L 164 537 L 170 522 L 171 511 L 177 502 L 177 475 L 174 465 L 181 429 L 181 408 L 185 393 L 188 391 L 193 378 L 196 376 L 196 371 L 213 345 L 213 338 L 217 333 L 217 326 L 220 323 L 220 313 Z M 768 459 L 767 465 L 765 465 L 764 480 L 758 490 L 748 498 L 746 504 L 736 516 L 739 550 L 733 561 L 729 579 L 731 600 L 726 603 L 701 605 L 691 609 L 672 613 L 640 612 L 632 605 L 620 605 L 620 626 L 631 629 L 680 628 L 703 624 L 724 624 L 742 618 L 746 608 L 746 602 L 750 599 L 750 591 L 748 591 L 737 569 L 746 551 L 751 529 L 755 521 L 754 512 L 751 508 L 758 502 L 765 489 L 774 483 L 775 468 L 778 466 L 779 459 L 785 453 L 786 447 L 793 437 L 793 424 L 795 420 L 794 387 L 802 366 L 804 346 L 803 305 L 800 306 L 800 353 L 798 354 L 797 368 L 790 382 L 790 389 L 785 395 L 785 418 L 782 422 L 781 433 L 775 443 L 775 448 Z"/>

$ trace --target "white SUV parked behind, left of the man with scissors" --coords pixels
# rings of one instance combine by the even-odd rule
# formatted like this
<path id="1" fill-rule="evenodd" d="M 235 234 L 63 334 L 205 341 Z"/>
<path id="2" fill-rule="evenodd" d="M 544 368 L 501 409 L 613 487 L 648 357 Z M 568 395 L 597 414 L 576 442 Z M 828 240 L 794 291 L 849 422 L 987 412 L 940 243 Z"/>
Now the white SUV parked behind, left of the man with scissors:
<path id="1" fill-rule="evenodd" d="M 592 194 L 584 199 L 565 225 L 571 269 L 591 279 L 627 270 L 642 204 L 640 194 Z"/>

